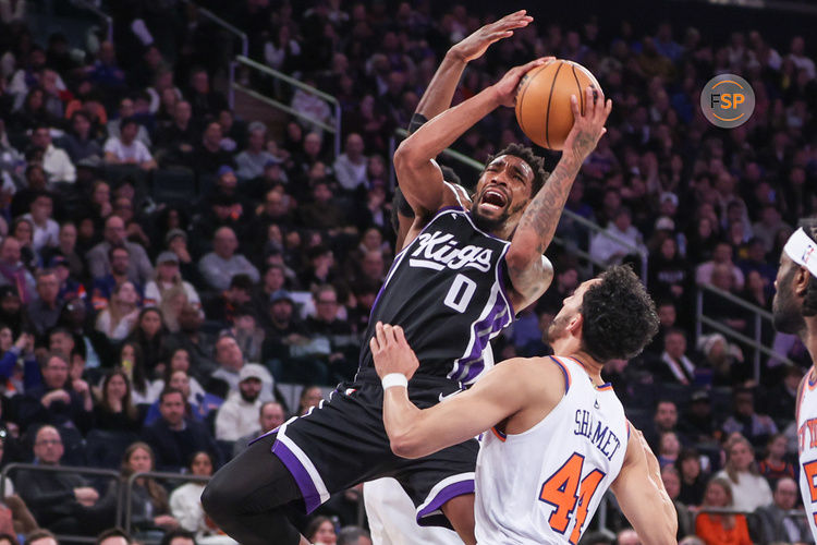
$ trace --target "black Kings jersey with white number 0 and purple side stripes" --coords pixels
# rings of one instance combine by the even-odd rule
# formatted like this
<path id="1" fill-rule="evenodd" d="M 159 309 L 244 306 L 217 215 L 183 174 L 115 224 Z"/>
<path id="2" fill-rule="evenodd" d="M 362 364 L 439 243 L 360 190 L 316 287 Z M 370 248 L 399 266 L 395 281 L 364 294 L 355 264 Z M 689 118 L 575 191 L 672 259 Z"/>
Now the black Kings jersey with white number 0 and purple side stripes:
<path id="1" fill-rule="evenodd" d="M 465 210 L 437 213 L 394 258 L 371 308 L 361 370 L 374 367 L 368 341 L 382 322 L 404 329 L 417 375 L 473 383 L 488 342 L 514 318 L 504 286 L 509 246 Z"/>

